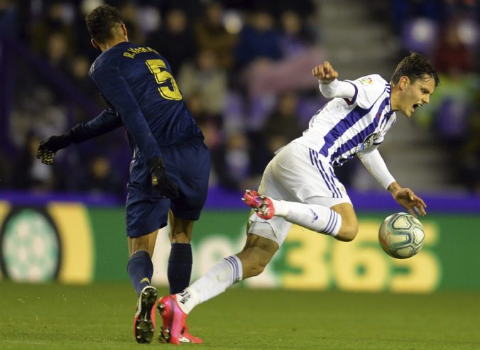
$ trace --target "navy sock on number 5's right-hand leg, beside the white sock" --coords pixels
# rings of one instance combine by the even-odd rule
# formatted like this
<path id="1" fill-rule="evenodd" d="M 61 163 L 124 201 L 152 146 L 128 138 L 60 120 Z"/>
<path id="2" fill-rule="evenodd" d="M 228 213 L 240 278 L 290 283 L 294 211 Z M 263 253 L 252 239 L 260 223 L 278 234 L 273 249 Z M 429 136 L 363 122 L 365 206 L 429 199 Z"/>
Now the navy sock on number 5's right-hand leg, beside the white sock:
<path id="1" fill-rule="evenodd" d="M 192 274 L 192 246 L 187 243 L 173 243 L 168 258 L 168 283 L 170 294 L 181 292 L 188 287 Z"/>

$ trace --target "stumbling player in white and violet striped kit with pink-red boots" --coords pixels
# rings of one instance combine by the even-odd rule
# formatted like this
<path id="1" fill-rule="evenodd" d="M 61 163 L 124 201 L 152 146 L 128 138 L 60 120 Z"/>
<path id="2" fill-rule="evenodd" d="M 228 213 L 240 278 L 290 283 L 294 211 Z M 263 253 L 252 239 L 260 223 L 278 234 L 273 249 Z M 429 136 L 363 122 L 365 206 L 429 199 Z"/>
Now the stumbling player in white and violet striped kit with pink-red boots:
<path id="1" fill-rule="evenodd" d="M 219 261 L 182 292 L 159 300 L 160 337 L 166 341 L 179 344 L 193 307 L 261 273 L 292 224 L 339 241 L 353 240 L 358 231 L 354 207 L 332 167 L 354 155 L 398 204 L 411 214 L 426 214 L 425 202 L 398 185 L 377 148 L 396 121 L 395 111 L 409 118 L 430 101 L 439 78 L 427 58 L 417 53 L 404 58 L 390 82 L 380 75 L 339 81 L 329 62 L 313 68 L 312 75 L 320 81 L 324 97 L 333 99 L 317 111 L 302 136 L 277 151 L 258 192 L 246 191 L 244 202 L 253 211 L 243 250 Z"/>

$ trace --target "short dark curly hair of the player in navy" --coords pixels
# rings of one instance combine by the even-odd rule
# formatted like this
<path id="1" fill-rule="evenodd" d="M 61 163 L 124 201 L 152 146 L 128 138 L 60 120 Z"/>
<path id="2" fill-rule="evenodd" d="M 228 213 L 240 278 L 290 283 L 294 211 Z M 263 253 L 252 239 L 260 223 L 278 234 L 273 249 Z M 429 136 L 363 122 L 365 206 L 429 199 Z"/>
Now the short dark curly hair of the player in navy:
<path id="1" fill-rule="evenodd" d="M 90 35 L 99 43 L 104 43 L 114 37 L 117 28 L 124 24 L 119 10 L 110 5 L 96 7 L 87 14 L 85 22 L 87 22 Z"/>

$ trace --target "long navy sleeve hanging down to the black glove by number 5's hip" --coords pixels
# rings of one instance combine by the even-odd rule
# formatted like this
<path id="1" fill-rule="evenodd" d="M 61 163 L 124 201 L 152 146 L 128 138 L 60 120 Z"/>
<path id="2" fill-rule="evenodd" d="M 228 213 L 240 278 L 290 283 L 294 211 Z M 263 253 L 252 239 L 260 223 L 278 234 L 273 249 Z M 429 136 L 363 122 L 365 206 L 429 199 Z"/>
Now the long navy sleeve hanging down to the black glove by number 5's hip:
<path id="1" fill-rule="evenodd" d="M 91 77 L 109 104 L 120 114 L 126 130 L 143 152 L 145 159 L 161 156 L 158 143 L 119 68 L 102 65 L 92 72 Z"/>

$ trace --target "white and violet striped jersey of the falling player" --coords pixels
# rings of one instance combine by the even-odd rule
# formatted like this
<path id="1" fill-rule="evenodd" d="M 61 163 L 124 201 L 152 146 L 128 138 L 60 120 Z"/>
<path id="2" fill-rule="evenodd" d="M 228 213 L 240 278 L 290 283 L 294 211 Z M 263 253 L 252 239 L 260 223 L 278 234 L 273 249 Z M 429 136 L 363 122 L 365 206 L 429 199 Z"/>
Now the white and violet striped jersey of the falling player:
<path id="1" fill-rule="evenodd" d="M 376 148 L 396 121 L 391 85 L 380 75 L 344 82 L 354 87 L 348 98 L 336 97 L 325 104 L 312 116 L 307 131 L 293 141 L 324 156 L 334 166 L 356 153 Z"/>

